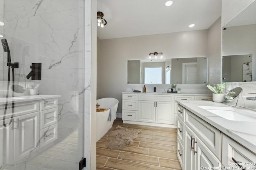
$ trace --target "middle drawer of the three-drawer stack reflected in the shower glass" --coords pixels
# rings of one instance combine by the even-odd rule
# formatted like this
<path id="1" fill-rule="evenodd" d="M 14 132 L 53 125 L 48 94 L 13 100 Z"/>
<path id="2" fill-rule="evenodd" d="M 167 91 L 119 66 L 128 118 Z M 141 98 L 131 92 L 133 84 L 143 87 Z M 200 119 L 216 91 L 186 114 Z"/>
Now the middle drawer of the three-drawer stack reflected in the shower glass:
<path id="1" fill-rule="evenodd" d="M 43 110 L 41 111 L 41 127 L 40 129 L 43 129 L 45 127 L 48 127 L 50 125 L 53 125 L 55 123 L 57 123 L 58 121 L 58 108 L 53 108 L 53 109 L 47 109 L 47 110 Z"/>

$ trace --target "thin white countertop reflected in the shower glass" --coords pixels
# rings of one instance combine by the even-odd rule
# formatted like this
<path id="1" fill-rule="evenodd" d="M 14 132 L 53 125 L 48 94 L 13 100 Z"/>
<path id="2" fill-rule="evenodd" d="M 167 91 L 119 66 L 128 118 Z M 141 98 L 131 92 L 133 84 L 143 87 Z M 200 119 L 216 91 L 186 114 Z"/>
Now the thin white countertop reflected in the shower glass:
<path id="1" fill-rule="evenodd" d="M 18 102 L 28 102 L 28 101 L 34 101 L 34 100 L 44 100 L 44 99 L 50 99 L 50 98 L 60 98 L 60 95 L 34 95 L 34 96 L 18 96 L 14 98 L 7 98 L 8 103 L 14 101 L 15 103 Z M 6 103 L 6 98 L 0 98 L 0 105 Z"/>

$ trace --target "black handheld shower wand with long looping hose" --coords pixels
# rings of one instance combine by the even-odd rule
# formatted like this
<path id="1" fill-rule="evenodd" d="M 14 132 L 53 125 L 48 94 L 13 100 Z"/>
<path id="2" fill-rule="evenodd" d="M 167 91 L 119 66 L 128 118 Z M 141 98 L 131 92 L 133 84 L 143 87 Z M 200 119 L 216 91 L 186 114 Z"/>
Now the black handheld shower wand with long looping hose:
<path id="1" fill-rule="evenodd" d="M 5 108 L 4 108 L 4 118 L 3 118 L 3 124 L 4 127 L 9 126 L 12 123 L 12 119 L 13 119 L 13 113 L 14 113 L 14 100 L 12 100 L 12 116 L 10 119 L 10 122 L 6 125 L 6 111 L 7 111 L 7 107 L 8 107 L 8 97 L 9 97 L 9 88 L 10 88 L 10 68 L 12 67 L 12 85 L 14 85 L 14 68 L 18 68 L 19 67 L 19 63 L 12 63 L 11 62 L 11 54 L 10 54 L 10 49 L 7 43 L 6 39 L 1 39 L 3 48 L 4 48 L 4 52 L 7 52 L 7 66 L 8 66 L 8 83 L 7 83 L 7 91 L 6 91 L 6 102 L 5 102 Z M 14 86 L 13 89 L 14 91 Z M 12 93 L 12 97 L 14 97 L 14 93 Z"/>

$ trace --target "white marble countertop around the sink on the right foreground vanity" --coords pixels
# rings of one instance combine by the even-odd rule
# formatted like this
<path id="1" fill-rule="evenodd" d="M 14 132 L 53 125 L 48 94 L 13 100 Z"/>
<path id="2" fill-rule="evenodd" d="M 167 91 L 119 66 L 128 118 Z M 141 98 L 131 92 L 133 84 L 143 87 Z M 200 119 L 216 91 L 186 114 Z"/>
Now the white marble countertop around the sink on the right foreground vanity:
<path id="1" fill-rule="evenodd" d="M 256 154 L 256 111 L 211 101 L 176 100 L 176 102 Z M 250 118 L 251 121 L 225 119 L 199 106 L 212 107 L 213 109 L 214 107 L 222 107 L 223 110 L 232 109 L 242 113 L 242 116 Z M 219 110 L 219 112 L 221 111 Z"/>

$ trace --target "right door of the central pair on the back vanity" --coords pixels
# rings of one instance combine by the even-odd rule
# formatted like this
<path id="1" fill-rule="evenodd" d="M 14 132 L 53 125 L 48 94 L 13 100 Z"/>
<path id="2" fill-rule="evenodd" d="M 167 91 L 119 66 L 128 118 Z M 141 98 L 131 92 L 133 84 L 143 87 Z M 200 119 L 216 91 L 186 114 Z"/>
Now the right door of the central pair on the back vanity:
<path id="1" fill-rule="evenodd" d="M 172 102 L 155 102 L 156 123 L 174 124 L 174 104 Z"/>

